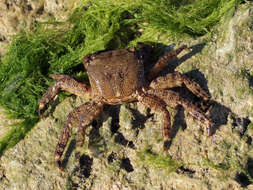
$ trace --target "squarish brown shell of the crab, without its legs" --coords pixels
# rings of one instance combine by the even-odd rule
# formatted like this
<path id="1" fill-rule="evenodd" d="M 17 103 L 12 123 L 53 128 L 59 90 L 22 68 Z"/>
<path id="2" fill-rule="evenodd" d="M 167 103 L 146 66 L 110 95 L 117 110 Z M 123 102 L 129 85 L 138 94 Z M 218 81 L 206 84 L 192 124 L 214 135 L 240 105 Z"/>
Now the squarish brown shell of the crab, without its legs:
<path id="1" fill-rule="evenodd" d="M 134 100 L 135 92 L 145 85 L 143 61 L 128 49 L 91 54 L 83 59 L 93 97 L 108 104 Z"/>

